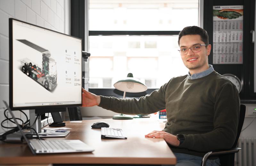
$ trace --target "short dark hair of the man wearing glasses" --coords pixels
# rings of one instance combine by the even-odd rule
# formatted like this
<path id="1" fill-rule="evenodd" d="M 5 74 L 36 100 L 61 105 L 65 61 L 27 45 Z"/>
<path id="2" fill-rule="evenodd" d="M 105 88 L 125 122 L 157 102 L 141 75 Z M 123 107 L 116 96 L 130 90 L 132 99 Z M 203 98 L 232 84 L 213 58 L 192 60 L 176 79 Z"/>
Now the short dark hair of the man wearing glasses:
<path id="1" fill-rule="evenodd" d="M 204 30 L 203 28 L 200 28 L 198 26 L 187 26 L 185 28 L 182 29 L 182 31 L 180 31 L 179 33 L 179 40 L 182 36 L 185 35 L 190 35 L 190 34 L 199 34 L 201 37 L 201 40 L 205 43 L 205 44 L 209 44 L 209 36 L 206 32 L 206 30 Z M 178 44 L 179 44 L 179 40 L 178 40 Z"/>

